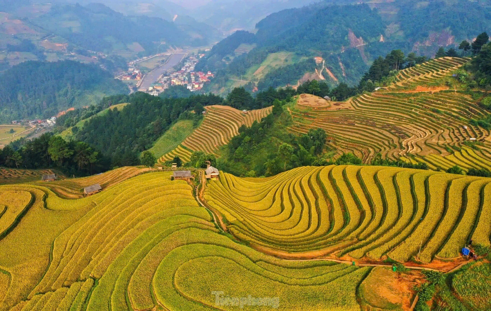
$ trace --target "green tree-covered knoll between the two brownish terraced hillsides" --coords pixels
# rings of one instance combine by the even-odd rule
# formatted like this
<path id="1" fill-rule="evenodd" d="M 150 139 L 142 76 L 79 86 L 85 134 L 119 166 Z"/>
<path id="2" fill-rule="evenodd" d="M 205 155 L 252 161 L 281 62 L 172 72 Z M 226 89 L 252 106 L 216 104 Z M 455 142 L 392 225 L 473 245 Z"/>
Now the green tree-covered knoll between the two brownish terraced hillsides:
<path id="1" fill-rule="evenodd" d="M 250 128 L 242 126 L 239 135 L 222 147 L 220 169 L 238 176 L 273 176 L 294 167 L 314 165 L 325 149 L 326 132 L 310 130 L 296 136 L 287 130 L 292 120 L 283 107 L 287 101 L 275 100 L 273 112 Z"/>

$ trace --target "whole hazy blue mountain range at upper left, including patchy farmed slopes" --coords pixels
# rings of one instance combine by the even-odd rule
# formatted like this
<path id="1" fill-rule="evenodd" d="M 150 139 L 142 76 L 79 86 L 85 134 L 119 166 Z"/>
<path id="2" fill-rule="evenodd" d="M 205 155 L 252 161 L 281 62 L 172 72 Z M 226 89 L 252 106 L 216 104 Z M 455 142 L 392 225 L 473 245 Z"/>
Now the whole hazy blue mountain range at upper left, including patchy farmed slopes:
<path id="1" fill-rule="evenodd" d="M 138 10 L 142 14 L 136 14 Z M 68 44 L 75 49 L 145 55 L 155 53 L 162 42 L 165 45 L 160 51 L 210 45 L 222 38 L 217 29 L 192 18 L 177 19 L 165 10 L 149 10 L 154 14 L 146 16 L 141 6 L 134 6 L 133 11 L 127 12 L 130 15 L 124 15 L 100 3 L 16 6 L 10 0 L 2 0 L 0 51 L 7 44 L 17 45 L 24 39 L 40 46 L 41 40 L 47 39 L 53 45 Z"/>

